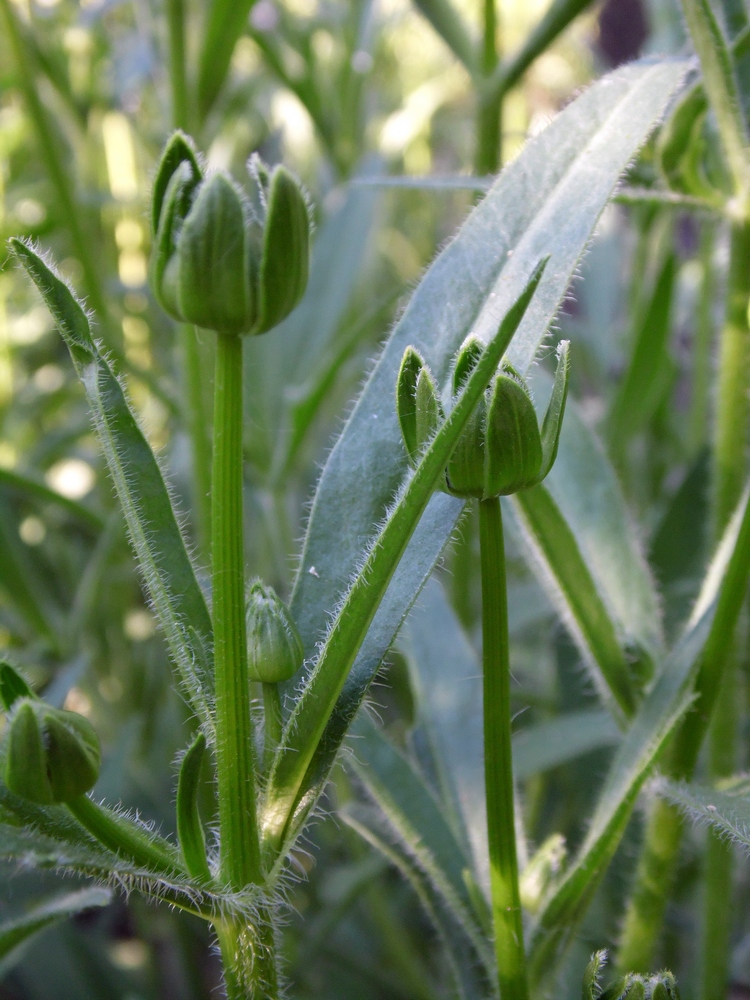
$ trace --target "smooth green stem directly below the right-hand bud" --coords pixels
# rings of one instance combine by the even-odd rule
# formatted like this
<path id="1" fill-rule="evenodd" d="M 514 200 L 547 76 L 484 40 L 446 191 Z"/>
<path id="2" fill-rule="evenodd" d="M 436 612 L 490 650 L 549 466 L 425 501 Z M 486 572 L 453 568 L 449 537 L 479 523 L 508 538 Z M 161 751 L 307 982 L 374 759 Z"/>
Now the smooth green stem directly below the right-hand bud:
<path id="1" fill-rule="evenodd" d="M 527 1000 L 514 819 L 505 550 L 502 512 L 497 497 L 479 503 L 479 545 L 482 565 L 484 780 L 495 951 L 503 1000 Z"/>

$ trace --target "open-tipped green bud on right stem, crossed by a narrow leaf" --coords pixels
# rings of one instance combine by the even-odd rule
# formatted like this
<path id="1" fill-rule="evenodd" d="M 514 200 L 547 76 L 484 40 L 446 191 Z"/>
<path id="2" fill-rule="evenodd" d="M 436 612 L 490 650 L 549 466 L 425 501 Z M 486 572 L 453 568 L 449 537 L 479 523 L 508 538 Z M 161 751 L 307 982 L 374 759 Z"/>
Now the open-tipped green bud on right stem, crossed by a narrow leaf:
<path id="1" fill-rule="evenodd" d="M 454 399 L 482 350 L 476 337 L 464 341 L 453 368 Z M 525 382 L 510 365 L 502 365 L 451 456 L 446 469 L 447 492 L 487 500 L 540 483 L 557 455 L 567 391 L 567 341 L 560 345 L 555 384 L 541 429 Z M 409 460 L 417 465 L 444 417 L 435 380 L 413 347 L 407 347 L 401 362 L 396 406 Z"/>

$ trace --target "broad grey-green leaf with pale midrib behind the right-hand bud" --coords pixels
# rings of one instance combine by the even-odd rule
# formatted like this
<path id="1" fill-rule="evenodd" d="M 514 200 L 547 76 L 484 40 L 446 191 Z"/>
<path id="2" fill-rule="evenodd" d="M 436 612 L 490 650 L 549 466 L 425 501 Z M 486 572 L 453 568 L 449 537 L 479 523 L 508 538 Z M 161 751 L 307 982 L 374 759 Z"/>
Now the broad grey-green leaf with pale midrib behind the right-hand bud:
<path id="1" fill-rule="evenodd" d="M 361 565 L 373 525 L 408 468 L 394 388 L 404 350 L 413 345 L 438 384 L 445 384 L 468 333 L 486 337 L 520 292 L 532 263 L 551 253 L 554 264 L 509 351 L 511 363 L 525 373 L 622 171 L 663 114 L 685 69 L 677 61 L 637 63 L 596 83 L 505 168 L 425 275 L 318 485 L 292 598 L 308 657 L 315 657 L 328 613 Z M 347 727 L 462 508 L 440 494 L 430 501 L 301 786 L 300 820 L 302 800 L 312 805 L 322 791 Z"/>

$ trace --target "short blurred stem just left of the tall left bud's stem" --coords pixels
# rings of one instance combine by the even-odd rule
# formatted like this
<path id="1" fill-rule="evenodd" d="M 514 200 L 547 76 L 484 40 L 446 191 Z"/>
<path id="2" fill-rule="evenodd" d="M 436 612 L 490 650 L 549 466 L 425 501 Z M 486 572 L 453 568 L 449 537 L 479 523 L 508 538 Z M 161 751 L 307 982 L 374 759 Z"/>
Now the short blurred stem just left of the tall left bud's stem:
<path id="1" fill-rule="evenodd" d="M 211 441 L 204 402 L 204 366 L 195 327 L 180 326 L 185 387 L 184 416 L 193 457 L 193 506 L 198 547 L 208 554 L 211 537 Z"/>

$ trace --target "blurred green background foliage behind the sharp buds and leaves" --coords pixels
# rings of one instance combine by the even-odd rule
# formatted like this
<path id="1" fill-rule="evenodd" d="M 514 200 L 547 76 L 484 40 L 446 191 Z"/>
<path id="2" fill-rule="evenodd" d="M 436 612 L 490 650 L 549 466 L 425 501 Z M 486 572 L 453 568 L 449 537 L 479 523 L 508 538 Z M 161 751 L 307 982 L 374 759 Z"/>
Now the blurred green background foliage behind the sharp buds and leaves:
<path id="1" fill-rule="evenodd" d="M 460 183 L 373 182 L 455 178 L 481 166 L 476 88 L 424 16 L 430 6 L 0 0 L 2 243 L 14 235 L 38 241 L 86 298 L 204 568 L 212 345 L 209 336 L 191 341 L 178 330 L 149 291 L 151 177 L 179 125 L 196 137 L 209 166 L 242 180 L 257 150 L 271 163 L 283 159 L 311 193 L 310 288 L 285 335 L 248 343 L 245 361 L 247 568 L 284 596 L 319 463 L 410 288 L 476 197 Z M 478 35 L 478 0 L 455 6 Z M 522 50 L 554 6 L 496 0 L 501 55 Z M 504 95 L 503 163 L 609 67 L 684 48 L 676 0 L 577 7 L 579 16 L 541 46 Z M 726 10 L 730 21 L 739 17 L 737 30 L 746 24 L 742 4 L 727 2 Z M 175 63 L 180 44 L 184 78 Z M 653 179 L 651 147 L 633 176 Z M 667 631 L 685 617 L 708 554 L 711 369 L 727 257 L 726 233 L 706 214 L 613 205 L 555 333 L 572 341 L 573 392 L 618 470 L 663 588 Z M 644 329 L 658 335 L 645 338 Z M 474 645 L 475 536 L 468 518 L 442 572 L 455 627 L 460 622 Z M 510 558 L 522 748 L 526 729 L 598 702 L 518 540 L 511 539 Z M 433 598 L 420 603 L 375 695 L 391 735 L 417 753 L 414 632 L 429 628 Z M 171 686 L 66 348 L 31 284 L 3 259 L 0 650 L 48 701 L 94 721 L 105 748 L 97 791 L 169 832 L 186 710 Z M 581 838 L 616 741 L 597 718 L 589 718 L 573 754 L 570 734 L 554 729 L 546 743 L 533 744 L 536 757 L 519 750 L 526 828 L 536 845 L 562 832 L 572 849 Z M 352 748 L 356 755 L 356 742 Z M 351 770 L 339 768 L 331 813 L 356 794 Z M 205 798 L 210 808 L 210 787 Z M 618 933 L 638 822 L 571 955 L 571 996 L 590 951 Z M 694 954 L 698 845 L 693 837 L 683 852 L 662 956 L 683 982 Z M 290 889 L 284 934 L 292 995 L 445 995 L 440 949 L 416 896 L 354 831 L 321 816 L 297 862 L 306 877 Z M 12 874 L 2 872 L 0 916 L 22 912 L 52 879 Z M 739 878 L 746 881 L 746 872 Z M 735 921 L 738 995 L 750 989 L 747 898 L 738 896 L 745 902 Z M 3 1000 L 202 1000 L 219 982 L 203 925 L 149 907 L 137 894 L 46 931 L 0 961 L 0 973 Z"/>

